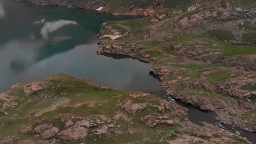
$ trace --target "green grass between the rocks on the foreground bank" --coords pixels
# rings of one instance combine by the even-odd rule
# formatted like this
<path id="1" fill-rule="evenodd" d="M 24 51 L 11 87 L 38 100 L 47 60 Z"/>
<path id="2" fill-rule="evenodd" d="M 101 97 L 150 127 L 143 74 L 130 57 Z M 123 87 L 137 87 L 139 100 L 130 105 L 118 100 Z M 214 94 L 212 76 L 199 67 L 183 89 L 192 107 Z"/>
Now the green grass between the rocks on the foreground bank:
<path id="1" fill-rule="evenodd" d="M 210 140 L 211 137 L 230 137 L 231 139 L 237 141 L 245 142 L 245 140 L 237 136 L 225 136 L 225 135 L 212 135 L 212 136 L 196 136 L 194 134 L 193 128 L 184 125 L 158 125 L 155 128 L 149 128 L 144 125 L 140 118 L 150 113 L 159 113 L 153 105 L 159 105 L 160 99 L 156 98 L 154 95 L 146 94 L 143 98 L 133 98 L 130 94 L 141 94 L 133 91 L 120 91 L 112 89 L 104 89 L 95 84 L 92 84 L 88 80 L 77 80 L 69 77 L 67 75 L 55 75 L 49 77 L 48 79 L 40 80 L 36 83 L 43 86 L 44 89 L 33 95 L 25 95 L 22 91 L 22 87 L 26 85 L 17 85 L 9 95 L 15 97 L 15 101 L 18 106 L 8 109 L 8 115 L 1 116 L 0 121 L 0 140 L 3 140 L 7 136 L 18 136 L 20 139 L 30 139 L 30 140 L 41 140 L 42 138 L 34 137 L 33 135 L 22 135 L 20 134 L 20 129 L 27 123 L 40 121 L 36 123 L 33 127 L 39 124 L 48 123 L 49 121 L 53 123 L 55 127 L 59 127 L 60 130 L 65 130 L 64 123 L 57 120 L 50 120 L 58 114 L 71 113 L 72 116 L 98 116 L 106 115 L 107 117 L 113 117 L 118 112 L 126 113 L 123 109 L 120 109 L 118 103 L 120 101 L 130 99 L 133 103 L 148 103 L 147 109 L 136 112 L 133 115 L 126 113 L 127 116 L 132 118 L 131 122 L 119 120 L 116 125 L 119 125 L 118 129 L 123 131 L 124 134 L 113 134 L 109 133 L 107 135 L 95 135 L 89 131 L 89 135 L 83 140 L 77 141 L 60 141 L 60 143 L 167 143 L 166 141 L 174 140 L 178 136 L 188 135 L 199 137 L 202 140 Z M 57 109 L 49 112 L 44 112 L 40 116 L 33 116 L 33 113 L 39 110 L 45 110 L 46 108 L 56 105 L 63 100 L 68 100 L 68 103 L 60 105 Z M 74 106 L 80 103 L 83 105 Z M 90 107 L 90 103 L 97 103 L 99 107 Z M 174 106 L 174 105 L 173 105 Z M 170 107 L 166 111 L 175 111 L 177 107 Z M 13 122 L 8 122 L 11 116 L 16 115 L 17 118 Z M 173 118 L 177 116 L 173 115 Z M 185 121 L 185 116 L 179 117 Z M 43 120 L 43 121 L 42 121 Z M 187 123 L 187 122 L 186 122 Z M 94 128 L 97 128 L 94 127 Z M 130 134 L 127 131 L 129 129 L 141 130 L 139 133 Z M 143 141 L 143 139 L 146 141 Z M 20 141 L 20 140 L 18 140 Z M 16 142 L 18 142 L 16 141 Z M 236 143 L 236 142 L 235 142 Z"/>

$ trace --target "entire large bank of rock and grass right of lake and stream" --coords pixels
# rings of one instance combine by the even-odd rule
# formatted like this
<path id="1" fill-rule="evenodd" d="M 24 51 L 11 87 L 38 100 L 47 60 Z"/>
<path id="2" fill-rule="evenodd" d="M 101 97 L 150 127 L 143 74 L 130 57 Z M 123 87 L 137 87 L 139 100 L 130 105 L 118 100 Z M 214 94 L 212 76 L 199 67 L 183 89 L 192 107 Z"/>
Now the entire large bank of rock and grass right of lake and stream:
<path id="1" fill-rule="evenodd" d="M 255 132 L 255 5 L 202 2 L 143 19 L 103 23 L 97 52 L 148 61 L 173 98 Z"/>

